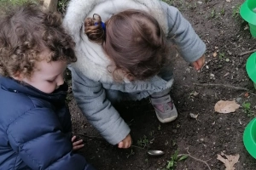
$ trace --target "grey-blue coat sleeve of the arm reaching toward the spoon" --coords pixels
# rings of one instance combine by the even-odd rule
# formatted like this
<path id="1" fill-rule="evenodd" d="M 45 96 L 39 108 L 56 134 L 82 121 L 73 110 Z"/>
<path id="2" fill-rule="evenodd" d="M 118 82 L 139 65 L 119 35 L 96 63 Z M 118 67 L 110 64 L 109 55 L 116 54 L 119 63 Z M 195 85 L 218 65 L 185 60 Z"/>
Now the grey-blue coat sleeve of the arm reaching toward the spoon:
<path id="1" fill-rule="evenodd" d="M 130 133 L 130 127 L 106 98 L 101 82 L 81 76 L 73 68 L 71 70 L 73 94 L 84 116 L 110 144 L 118 144 Z"/>

